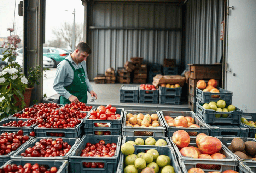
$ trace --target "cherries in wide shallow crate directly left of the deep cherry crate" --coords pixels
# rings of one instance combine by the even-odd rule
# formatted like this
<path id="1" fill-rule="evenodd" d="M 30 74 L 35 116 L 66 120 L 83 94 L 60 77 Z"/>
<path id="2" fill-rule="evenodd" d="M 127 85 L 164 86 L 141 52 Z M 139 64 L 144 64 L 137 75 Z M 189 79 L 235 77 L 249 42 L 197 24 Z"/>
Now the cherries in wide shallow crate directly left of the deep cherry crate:
<path id="1" fill-rule="evenodd" d="M 33 147 L 28 147 L 21 156 L 24 157 L 56 157 L 65 156 L 71 149 L 68 142 L 64 142 L 62 138 L 53 140 L 52 138 L 40 139 Z"/>

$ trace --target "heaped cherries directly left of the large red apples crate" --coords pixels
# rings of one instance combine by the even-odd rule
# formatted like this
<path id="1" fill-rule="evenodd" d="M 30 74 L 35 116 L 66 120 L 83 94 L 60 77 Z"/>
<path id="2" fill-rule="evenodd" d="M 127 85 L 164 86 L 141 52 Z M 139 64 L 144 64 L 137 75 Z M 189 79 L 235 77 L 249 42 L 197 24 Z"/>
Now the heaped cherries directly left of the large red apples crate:
<path id="1" fill-rule="evenodd" d="M 80 119 L 85 118 L 86 115 L 86 113 L 62 107 L 37 118 L 36 125 L 42 128 L 54 129 L 74 128 L 77 124 L 81 123 Z"/>

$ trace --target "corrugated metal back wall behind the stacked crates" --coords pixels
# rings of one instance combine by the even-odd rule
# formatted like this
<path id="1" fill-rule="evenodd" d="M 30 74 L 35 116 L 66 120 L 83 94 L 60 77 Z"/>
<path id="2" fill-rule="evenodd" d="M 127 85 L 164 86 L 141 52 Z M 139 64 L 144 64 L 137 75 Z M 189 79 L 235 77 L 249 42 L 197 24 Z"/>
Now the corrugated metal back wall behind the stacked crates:
<path id="1" fill-rule="evenodd" d="M 95 2 L 92 8 L 88 76 L 123 67 L 130 57 L 163 64 L 181 63 L 181 6 L 170 4 Z"/>

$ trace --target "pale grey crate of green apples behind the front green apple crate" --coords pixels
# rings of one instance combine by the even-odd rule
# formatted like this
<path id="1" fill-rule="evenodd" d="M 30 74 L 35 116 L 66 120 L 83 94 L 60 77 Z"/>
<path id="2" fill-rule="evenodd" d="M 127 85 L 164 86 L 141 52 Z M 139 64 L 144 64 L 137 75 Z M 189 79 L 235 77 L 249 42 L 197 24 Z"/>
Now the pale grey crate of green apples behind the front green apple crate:
<path id="1" fill-rule="evenodd" d="M 141 138 L 145 141 L 149 137 L 147 137 L 147 136 L 123 136 L 122 144 L 126 143 L 127 141 L 135 141 L 135 139 L 137 139 L 137 138 Z M 165 146 L 142 145 L 142 146 L 149 147 L 149 148 L 171 146 L 170 140 L 165 136 L 162 136 L 162 137 L 153 136 L 152 138 L 154 138 L 156 141 L 158 139 L 164 139 L 164 141 L 166 141 L 167 145 L 165 145 Z M 135 145 L 135 146 L 138 146 L 138 145 Z"/>

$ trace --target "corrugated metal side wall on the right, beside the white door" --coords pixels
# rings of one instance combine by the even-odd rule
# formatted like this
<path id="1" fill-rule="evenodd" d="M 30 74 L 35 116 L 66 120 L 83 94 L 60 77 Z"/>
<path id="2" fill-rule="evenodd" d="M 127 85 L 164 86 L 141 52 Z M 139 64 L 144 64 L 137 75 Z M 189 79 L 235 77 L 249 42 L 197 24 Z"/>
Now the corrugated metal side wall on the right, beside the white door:
<path id="1" fill-rule="evenodd" d="M 185 65 L 220 62 L 223 0 L 188 0 L 185 4 Z"/>

